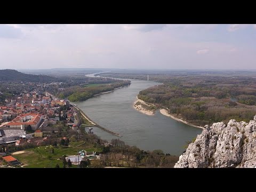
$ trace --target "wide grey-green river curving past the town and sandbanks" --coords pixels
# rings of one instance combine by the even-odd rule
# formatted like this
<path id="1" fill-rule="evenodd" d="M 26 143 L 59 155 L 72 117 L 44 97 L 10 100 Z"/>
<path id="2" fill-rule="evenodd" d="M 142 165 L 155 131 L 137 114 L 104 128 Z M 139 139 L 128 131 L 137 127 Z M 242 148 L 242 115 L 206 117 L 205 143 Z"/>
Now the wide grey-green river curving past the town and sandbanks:
<path id="1" fill-rule="evenodd" d="M 116 137 L 93 127 L 93 132 L 102 139 L 120 139 L 143 150 L 162 149 L 164 153 L 181 155 L 186 141 L 202 133 L 202 129 L 178 122 L 159 111 L 148 116 L 133 108 L 139 91 L 158 84 L 132 80 L 127 87 L 76 104 L 95 123 L 123 135 Z"/>

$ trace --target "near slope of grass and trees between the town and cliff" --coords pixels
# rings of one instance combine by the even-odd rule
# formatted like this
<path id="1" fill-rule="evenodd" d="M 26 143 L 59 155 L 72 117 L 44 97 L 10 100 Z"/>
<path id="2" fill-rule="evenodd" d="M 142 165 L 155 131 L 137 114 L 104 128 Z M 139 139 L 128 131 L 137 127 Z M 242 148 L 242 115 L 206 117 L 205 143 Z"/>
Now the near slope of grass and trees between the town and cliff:
<path id="1" fill-rule="evenodd" d="M 58 135 L 60 134 L 60 135 Z M 61 132 L 52 134 L 51 139 L 42 143 L 42 146 L 22 146 L 6 145 L 6 153 L 10 154 L 14 151 L 24 150 L 25 153 L 13 155 L 25 167 L 77 167 L 66 161 L 67 155 L 76 155 L 77 151 L 85 150 L 87 152 L 94 151 L 100 155 L 100 159 L 90 161 L 86 159 L 79 164 L 79 167 L 105 167 L 105 166 L 121 166 L 121 167 L 173 167 L 178 161 L 177 156 L 164 154 L 162 150 L 143 151 L 133 146 L 125 145 L 124 141 L 119 139 L 111 140 L 106 145 L 105 140 L 100 139 L 97 135 L 87 134 L 81 130 L 81 134 L 77 132 Z M 69 146 L 60 145 L 63 143 L 63 135 L 69 135 Z M 57 141 L 58 145 L 53 146 Z M 54 149 L 54 151 L 52 150 Z"/>

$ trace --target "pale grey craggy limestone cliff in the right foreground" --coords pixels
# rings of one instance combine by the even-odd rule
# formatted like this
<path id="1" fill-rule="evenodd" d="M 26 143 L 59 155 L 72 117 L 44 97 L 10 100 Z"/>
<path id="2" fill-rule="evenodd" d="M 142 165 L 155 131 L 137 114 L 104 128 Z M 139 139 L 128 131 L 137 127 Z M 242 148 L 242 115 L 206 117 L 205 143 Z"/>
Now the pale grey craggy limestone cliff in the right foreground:
<path id="1" fill-rule="evenodd" d="M 174 167 L 256 167 L 256 115 L 250 123 L 205 125 Z"/>

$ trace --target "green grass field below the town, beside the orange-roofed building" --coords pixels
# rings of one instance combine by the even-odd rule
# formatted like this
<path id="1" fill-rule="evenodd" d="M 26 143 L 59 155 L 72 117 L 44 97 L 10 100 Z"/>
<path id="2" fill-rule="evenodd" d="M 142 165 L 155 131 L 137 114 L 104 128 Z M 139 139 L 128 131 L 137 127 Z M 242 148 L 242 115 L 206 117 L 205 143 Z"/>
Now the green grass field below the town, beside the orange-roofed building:
<path id="1" fill-rule="evenodd" d="M 53 148 L 54 153 L 52 153 L 51 146 L 38 146 L 33 149 L 26 149 L 25 153 L 13 155 L 20 162 L 24 164 L 24 167 L 38 167 L 38 168 L 50 168 L 55 167 L 57 164 L 62 168 L 63 163 L 61 158 L 63 155 L 77 155 L 77 151 L 86 150 L 86 151 L 97 151 L 101 152 L 100 148 L 94 148 L 89 143 L 84 143 L 84 141 L 71 142 L 69 147 L 57 147 Z M 80 145 L 80 146 L 78 146 Z M 78 146 L 78 147 L 77 147 Z M 77 167 L 73 165 L 72 167 Z"/>

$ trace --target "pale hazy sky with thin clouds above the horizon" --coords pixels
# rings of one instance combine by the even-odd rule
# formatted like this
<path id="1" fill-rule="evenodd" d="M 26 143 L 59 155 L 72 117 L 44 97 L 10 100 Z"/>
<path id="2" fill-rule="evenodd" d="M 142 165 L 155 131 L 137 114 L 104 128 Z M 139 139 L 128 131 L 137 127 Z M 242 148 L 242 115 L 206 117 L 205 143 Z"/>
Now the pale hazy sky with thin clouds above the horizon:
<path id="1" fill-rule="evenodd" d="M 0 69 L 256 69 L 256 25 L 0 25 Z"/>

